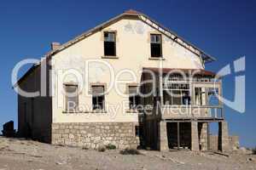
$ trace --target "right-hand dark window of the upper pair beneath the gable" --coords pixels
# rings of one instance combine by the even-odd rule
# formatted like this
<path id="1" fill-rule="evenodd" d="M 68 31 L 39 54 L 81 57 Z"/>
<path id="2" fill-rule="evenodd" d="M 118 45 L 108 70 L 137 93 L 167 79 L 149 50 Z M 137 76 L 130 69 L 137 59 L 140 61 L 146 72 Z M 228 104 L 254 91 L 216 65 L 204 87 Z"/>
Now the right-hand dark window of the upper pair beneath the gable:
<path id="1" fill-rule="evenodd" d="M 162 40 L 160 34 L 150 34 L 151 57 L 162 57 Z"/>

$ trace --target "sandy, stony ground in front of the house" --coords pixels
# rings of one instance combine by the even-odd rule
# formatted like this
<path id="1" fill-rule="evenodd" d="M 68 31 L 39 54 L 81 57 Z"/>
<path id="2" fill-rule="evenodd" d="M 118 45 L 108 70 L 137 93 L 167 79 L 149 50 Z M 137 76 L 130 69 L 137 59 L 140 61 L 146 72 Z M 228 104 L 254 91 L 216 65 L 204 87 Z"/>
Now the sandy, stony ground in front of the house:
<path id="1" fill-rule="evenodd" d="M 4 139 L 0 138 L 0 146 Z M 23 144 L 21 144 L 23 143 Z M 215 154 L 213 151 L 192 152 L 178 151 L 148 151 L 138 150 L 143 156 L 121 156 L 120 150 L 108 150 L 105 153 L 96 150 L 81 150 L 81 148 L 57 147 L 50 144 L 35 144 L 26 140 L 15 139 L 6 146 L 13 151 L 0 150 L 0 170 L 7 169 L 34 169 L 39 166 L 44 169 L 256 169 L 256 156 L 248 154 L 246 148 L 239 151 L 227 152 L 229 158 Z M 82 146 L 81 146 L 82 147 Z M 0 147 L 1 148 L 1 147 Z M 86 148 L 84 148 L 86 149 Z M 242 151 L 243 150 L 243 151 Z M 125 150 L 127 154 L 136 150 Z M 125 153 L 126 153 L 125 152 Z M 243 153 L 245 152 L 245 154 Z M 4 165 L 8 163 L 9 167 Z M 37 167 L 37 168 L 36 168 Z M 1 169 L 2 168 L 2 169 Z M 43 170 L 43 169 L 41 169 Z"/>

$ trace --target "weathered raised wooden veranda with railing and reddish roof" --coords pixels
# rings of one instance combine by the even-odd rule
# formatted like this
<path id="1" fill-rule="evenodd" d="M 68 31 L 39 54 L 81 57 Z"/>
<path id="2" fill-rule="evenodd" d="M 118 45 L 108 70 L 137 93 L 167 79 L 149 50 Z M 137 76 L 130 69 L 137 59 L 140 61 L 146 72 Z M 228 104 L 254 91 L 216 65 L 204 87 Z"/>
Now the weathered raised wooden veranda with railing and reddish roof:
<path id="1" fill-rule="evenodd" d="M 154 96 L 143 99 L 143 105 L 153 105 L 153 118 L 223 120 L 222 81 L 212 71 L 193 69 L 156 69 L 155 77 L 144 73 L 144 80 L 156 82 L 143 84 L 143 94 L 155 91 Z"/>

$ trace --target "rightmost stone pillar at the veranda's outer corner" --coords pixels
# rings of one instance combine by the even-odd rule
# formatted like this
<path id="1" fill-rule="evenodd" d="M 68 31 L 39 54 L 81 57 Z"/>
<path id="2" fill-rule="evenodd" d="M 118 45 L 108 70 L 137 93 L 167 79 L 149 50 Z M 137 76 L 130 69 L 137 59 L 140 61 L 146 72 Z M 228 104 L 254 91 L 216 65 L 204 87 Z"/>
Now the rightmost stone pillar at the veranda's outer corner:
<path id="1" fill-rule="evenodd" d="M 228 151 L 229 143 L 228 122 L 218 122 L 218 150 Z"/>

